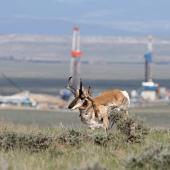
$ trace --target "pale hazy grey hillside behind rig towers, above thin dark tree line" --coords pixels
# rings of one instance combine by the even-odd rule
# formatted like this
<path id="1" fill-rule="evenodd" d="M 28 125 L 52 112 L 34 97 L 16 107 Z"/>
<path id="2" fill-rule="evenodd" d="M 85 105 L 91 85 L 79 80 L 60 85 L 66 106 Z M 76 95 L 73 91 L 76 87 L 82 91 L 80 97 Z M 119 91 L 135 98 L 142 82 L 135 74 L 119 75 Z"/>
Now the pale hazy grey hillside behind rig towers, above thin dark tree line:
<path id="1" fill-rule="evenodd" d="M 70 36 L 0 35 L 0 59 L 68 62 Z M 81 36 L 84 63 L 143 63 L 147 37 Z M 154 62 L 170 62 L 170 40 L 154 37 Z"/>

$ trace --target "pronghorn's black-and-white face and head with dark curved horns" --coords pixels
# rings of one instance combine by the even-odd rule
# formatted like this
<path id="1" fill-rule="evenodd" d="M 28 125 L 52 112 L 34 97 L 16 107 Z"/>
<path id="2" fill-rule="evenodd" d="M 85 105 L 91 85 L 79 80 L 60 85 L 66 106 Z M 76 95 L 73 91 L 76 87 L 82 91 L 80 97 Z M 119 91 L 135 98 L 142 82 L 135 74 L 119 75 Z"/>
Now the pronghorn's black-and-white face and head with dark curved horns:
<path id="1" fill-rule="evenodd" d="M 72 77 L 69 77 L 67 89 L 69 89 L 73 93 L 75 98 L 69 104 L 68 109 L 85 110 L 89 106 L 90 100 L 92 100 L 90 86 L 88 87 L 88 89 L 85 89 L 83 87 L 82 81 L 80 80 L 80 88 L 78 90 L 76 90 L 71 85 L 71 79 L 72 79 Z"/>

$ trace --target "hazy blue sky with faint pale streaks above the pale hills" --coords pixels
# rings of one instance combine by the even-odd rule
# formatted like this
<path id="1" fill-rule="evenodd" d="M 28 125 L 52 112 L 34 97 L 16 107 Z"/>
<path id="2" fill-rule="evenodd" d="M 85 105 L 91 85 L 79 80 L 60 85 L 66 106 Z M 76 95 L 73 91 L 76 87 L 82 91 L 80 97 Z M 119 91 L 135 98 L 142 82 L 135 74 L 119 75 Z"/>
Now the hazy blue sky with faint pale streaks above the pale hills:
<path id="1" fill-rule="evenodd" d="M 170 35 L 169 0 L 0 0 L 0 33 Z"/>

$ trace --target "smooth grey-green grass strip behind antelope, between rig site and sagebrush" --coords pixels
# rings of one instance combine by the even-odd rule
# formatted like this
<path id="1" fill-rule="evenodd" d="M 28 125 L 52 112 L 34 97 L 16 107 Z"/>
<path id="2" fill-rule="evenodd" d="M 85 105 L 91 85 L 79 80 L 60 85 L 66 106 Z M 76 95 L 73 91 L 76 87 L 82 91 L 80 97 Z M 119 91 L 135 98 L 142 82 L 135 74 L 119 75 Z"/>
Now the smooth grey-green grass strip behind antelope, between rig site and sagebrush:
<path id="1" fill-rule="evenodd" d="M 130 114 L 137 116 L 150 127 L 170 128 L 170 106 L 149 106 L 131 108 Z M 69 110 L 0 110 L 0 120 L 13 124 L 35 125 L 40 127 L 85 127 L 80 122 L 79 113 Z"/>

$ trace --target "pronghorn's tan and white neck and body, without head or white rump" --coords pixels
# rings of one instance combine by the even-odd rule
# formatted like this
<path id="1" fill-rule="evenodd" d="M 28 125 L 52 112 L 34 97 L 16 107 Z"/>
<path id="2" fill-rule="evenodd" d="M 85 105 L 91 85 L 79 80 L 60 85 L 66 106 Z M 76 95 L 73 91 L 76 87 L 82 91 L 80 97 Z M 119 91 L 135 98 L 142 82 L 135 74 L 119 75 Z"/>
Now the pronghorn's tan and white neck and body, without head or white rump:
<path id="1" fill-rule="evenodd" d="M 121 90 L 118 89 L 104 91 L 94 98 L 88 96 L 86 93 L 86 97 L 88 102 L 79 107 L 79 111 L 82 122 L 88 124 L 90 128 L 102 127 L 100 123 L 98 123 L 102 121 L 103 128 L 108 129 L 108 108 L 120 108 L 122 105 L 124 106 L 126 104 L 126 102 L 124 103 L 126 97 L 122 94 Z M 89 122 L 91 121 L 93 121 L 93 125 L 90 125 Z"/>

